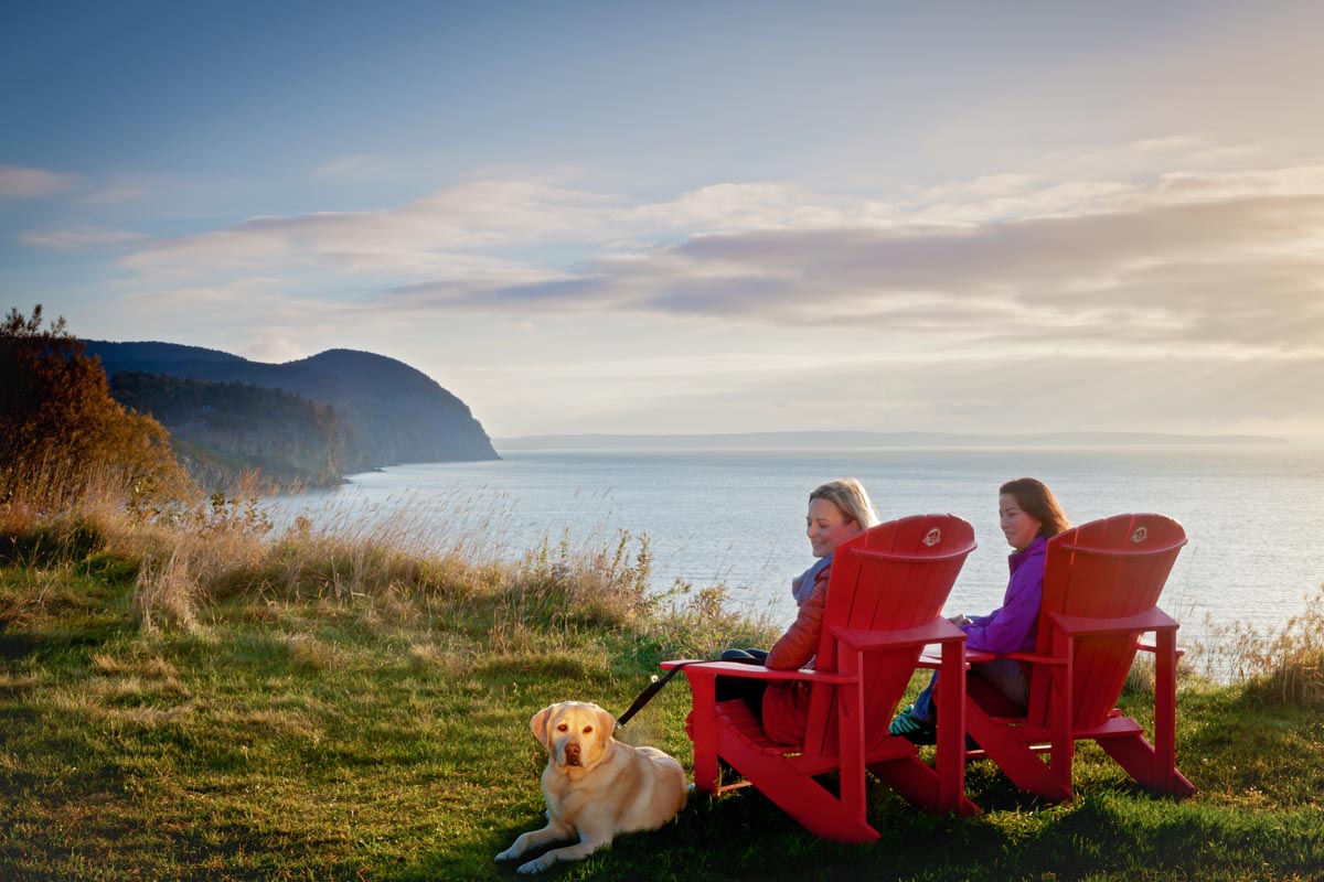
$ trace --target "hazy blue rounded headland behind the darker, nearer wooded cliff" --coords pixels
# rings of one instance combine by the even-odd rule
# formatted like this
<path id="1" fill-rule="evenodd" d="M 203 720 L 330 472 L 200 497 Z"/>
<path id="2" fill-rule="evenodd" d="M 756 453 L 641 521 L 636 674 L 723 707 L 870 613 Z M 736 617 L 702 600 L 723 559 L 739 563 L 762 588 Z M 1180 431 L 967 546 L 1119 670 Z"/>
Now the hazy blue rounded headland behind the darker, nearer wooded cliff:
<path id="1" fill-rule="evenodd" d="M 117 373 L 132 372 L 245 383 L 330 405 L 342 435 L 344 472 L 397 463 L 499 459 L 465 402 L 422 372 L 385 356 L 330 349 L 277 365 L 200 346 L 101 340 L 86 341 L 86 352 L 101 358 L 113 380 Z M 169 428 L 168 419 L 162 422 Z"/>

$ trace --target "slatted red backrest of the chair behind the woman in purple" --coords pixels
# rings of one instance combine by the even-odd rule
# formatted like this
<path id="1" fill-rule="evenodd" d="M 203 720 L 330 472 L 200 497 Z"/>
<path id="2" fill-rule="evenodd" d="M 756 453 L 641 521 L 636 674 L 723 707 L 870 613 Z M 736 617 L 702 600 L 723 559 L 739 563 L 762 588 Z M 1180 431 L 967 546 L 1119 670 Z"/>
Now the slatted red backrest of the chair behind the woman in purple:
<path id="1" fill-rule="evenodd" d="M 1045 612 L 1115 619 L 1152 610 L 1177 553 L 1186 543 L 1181 524 L 1161 514 L 1117 514 L 1049 540 L 1035 651 L 1055 655 L 1054 627 Z M 1116 706 L 1136 655 L 1140 632 L 1076 640 L 1071 693 L 1072 726 L 1102 725 Z M 1030 680 L 1029 721 L 1047 725 L 1049 672 Z"/>

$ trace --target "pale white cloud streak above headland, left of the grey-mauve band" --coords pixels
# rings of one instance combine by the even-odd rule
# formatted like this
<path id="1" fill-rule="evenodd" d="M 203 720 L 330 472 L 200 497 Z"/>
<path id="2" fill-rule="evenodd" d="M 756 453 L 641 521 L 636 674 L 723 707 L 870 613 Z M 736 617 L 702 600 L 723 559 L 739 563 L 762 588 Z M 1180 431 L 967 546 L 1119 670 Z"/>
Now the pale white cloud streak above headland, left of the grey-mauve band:
<path id="1" fill-rule="evenodd" d="M 222 230 L 154 242 L 124 266 L 261 266 L 297 259 L 369 272 L 444 272 L 516 251 L 564 247 L 592 254 L 651 247 L 658 237 L 679 239 L 694 230 L 825 226 L 841 220 L 839 213 L 771 184 L 724 184 L 666 202 L 630 205 L 617 194 L 547 180 L 481 180 L 396 209 L 253 217 Z M 632 238 L 638 241 L 632 245 Z M 522 263 L 500 259 L 506 266 Z"/>

